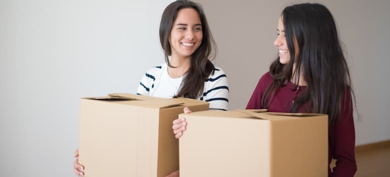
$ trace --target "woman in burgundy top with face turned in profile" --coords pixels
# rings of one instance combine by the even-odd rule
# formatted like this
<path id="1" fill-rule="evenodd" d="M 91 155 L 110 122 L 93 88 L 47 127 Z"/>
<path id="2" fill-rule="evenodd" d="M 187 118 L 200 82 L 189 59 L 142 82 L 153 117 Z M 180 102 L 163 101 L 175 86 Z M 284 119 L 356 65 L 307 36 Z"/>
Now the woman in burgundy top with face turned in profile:
<path id="1" fill-rule="evenodd" d="M 329 10 L 320 4 L 286 7 L 274 45 L 279 57 L 259 80 L 247 109 L 328 114 L 329 176 L 354 176 L 355 126 L 350 76 Z"/>

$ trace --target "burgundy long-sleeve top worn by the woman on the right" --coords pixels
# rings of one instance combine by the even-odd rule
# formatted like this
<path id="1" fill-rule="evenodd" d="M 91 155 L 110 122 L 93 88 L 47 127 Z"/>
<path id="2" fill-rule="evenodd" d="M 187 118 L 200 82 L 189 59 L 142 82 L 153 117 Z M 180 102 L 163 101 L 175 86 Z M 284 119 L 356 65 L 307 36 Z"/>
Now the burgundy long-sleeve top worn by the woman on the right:
<path id="1" fill-rule="evenodd" d="M 257 83 L 256 89 L 252 94 L 251 99 L 246 109 L 261 109 L 261 98 L 268 85 L 273 79 L 269 72 L 265 73 Z M 270 101 L 268 106 L 269 112 L 290 112 L 294 99 L 298 94 L 306 90 L 306 86 L 295 86 L 292 82 L 288 82 L 282 86 L 275 94 L 275 97 Z M 353 118 L 353 104 L 350 92 L 341 100 L 341 111 L 338 121 L 334 125 L 330 125 L 329 142 L 328 142 L 328 162 L 330 164 L 332 158 L 336 159 L 336 166 L 333 170 L 328 167 L 329 176 L 332 177 L 349 177 L 354 176 L 357 166 L 355 160 L 355 125 Z M 306 104 L 303 104 L 298 112 L 305 112 Z"/>

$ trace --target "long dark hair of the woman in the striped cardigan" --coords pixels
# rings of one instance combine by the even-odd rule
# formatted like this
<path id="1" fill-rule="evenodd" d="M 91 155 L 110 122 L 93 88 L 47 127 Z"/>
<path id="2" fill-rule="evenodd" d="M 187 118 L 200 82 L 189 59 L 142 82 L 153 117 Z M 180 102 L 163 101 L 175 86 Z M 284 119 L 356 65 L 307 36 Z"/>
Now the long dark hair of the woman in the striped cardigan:
<path id="1" fill-rule="evenodd" d="M 169 67 L 173 67 L 169 63 L 168 58 L 171 56 L 169 38 L 172 25 L 176 20 L 179 10 L 185 8 L 191 8 L 198 12 L 202 23 L 203 39 L 199 48 L 191 55 L 191 66 L 183 77 L 177 96 L 197 99 L 203 94 L 202 91 L 205 85 L 205 80 L 211 73 L 214 73 L 215 67 L 210 60 L 215 58 L 217 49 L 202 7 L 193 2 L 181 0 L 168 5 L 161 18 L 160 42 L 165 53 L 166 63 Z"/>

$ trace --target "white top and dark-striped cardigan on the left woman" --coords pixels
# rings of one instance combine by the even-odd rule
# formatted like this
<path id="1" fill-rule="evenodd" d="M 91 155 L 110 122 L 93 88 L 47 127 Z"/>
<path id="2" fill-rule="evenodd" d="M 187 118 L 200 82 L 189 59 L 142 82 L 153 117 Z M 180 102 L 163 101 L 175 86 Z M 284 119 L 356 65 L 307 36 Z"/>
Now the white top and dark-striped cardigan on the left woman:
<path id="1" fill-rule="evenodd" d="M 171 78 L 166 63 L 146 71 L 139 83 L 137 94 L 172 98 L 177 94 L 182 77 Z M 210 103 L 210 109 L 227 110 L 229 88 L 225 72 L 215 66 L 214 74 L 205 80 L 203 95 L 198 100 Z"/>

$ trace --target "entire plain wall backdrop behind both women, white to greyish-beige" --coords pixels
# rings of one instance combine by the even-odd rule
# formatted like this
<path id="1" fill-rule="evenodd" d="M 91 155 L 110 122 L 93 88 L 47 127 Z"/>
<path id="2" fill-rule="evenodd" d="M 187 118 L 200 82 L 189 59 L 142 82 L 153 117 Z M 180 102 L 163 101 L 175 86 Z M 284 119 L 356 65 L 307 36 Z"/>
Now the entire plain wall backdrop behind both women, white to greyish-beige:
<path id="1" fill-rule="evenodd" d="M 158 28 L 172 1 L 0 0 L 0 176 L 74 176 L 79 98 L 135 93 L 164 62 Z M 283 8 L 302 1 L 198 1 L 245 108 L 277 56 Z M 390 2 L 317 1 L 333 13 L 356 94 L 357 145 L 390 139 Z M 114 169 L 108 169 L 114 170 Z"/>

